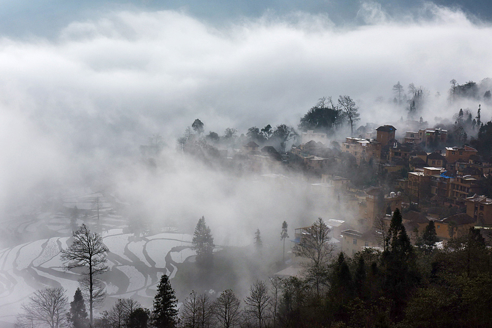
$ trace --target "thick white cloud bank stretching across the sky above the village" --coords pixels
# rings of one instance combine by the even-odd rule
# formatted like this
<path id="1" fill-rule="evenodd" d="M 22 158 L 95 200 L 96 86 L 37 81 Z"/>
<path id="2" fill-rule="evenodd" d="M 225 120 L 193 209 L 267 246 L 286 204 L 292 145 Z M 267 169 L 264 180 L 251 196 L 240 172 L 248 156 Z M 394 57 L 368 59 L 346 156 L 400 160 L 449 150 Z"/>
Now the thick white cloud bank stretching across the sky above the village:
<path id="1" fill-rule="evenodd" d="M 423 13 L 396 19 L 365 2 L 358 14 L 364 26 L 294 13 L 217 28 L 183 12 L 120 11 L 73 22 L 55 40 L 4 37 L 1 203 L 43 181 L 126 170 L 151 134 L 172 149 L 196 118 L 219 134 L 296 126 L 319 97 L 348 94 L 360 104 L 362 123 L 382 123 L 405 115 L 388 101 L 397 81 L 440 92 L 424 119 L 451 116 L 457 109 L 446 100 L 449 80 L 492 76 L 492 26 L 433 4 Z M 196 187 L 183 185 L 184 193 Z M 172 188 L 164 191 L 163 199 Z M 240 200 L 220 202 L 225 210 Z"/>

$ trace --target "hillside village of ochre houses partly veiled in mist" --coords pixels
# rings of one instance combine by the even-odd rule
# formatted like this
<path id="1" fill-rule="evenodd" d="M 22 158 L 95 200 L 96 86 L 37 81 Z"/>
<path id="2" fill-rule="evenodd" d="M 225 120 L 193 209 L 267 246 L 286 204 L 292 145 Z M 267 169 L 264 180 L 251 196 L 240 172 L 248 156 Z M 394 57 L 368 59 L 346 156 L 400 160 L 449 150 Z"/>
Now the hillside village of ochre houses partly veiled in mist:
<path id="1" fill-rule="evenodd" d="M 435 222 L 443 244 L 470 227 L 491 227 L 492 199 L 484 195 L 491 159 L 466 144 L 450 145 L 455 138 L 448 139 L 442 127 L 419 128 L 422 121 L 412 120 L 399 123 L 406 129 L 367 123 L 355 131 L 358 137 L 341 142 L 307 130 L 285 152 L 243 135 L 238 138 L 244 141 L 241 148 L 218 147 L 214 154 L 222 164 L 264 179 L 282 181 L 289 173 L 302 173 L 312 199 L 347 209 L 324 219 L 332 222 L 337 251 L 349 256 L 364 247 L 382 246 L 379 230 L 389 226 L 395 209 L 402 211 L 413 243 L 429 221 Z M 203 144 L 201 149 L 192 146 L 193 141 L 199 143 L 194 138 L 191 135 L 186 151 L 210 158 L 210 148 L 215 148 L 208 146 L 204 155 Z M 291 240 L 292 246 L 300 236 Z"/>

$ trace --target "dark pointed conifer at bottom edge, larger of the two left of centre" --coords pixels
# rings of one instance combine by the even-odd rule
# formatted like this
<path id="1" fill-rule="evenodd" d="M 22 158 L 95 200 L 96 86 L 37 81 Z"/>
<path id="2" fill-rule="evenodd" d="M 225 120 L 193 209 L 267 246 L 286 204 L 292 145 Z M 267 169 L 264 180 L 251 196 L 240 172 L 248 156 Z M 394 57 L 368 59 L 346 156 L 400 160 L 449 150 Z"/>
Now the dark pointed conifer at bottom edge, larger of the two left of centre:
<path id="1" fill-rule="evenodd" d="M 157 294 L 154 297 L 154 309 L 152 317 L 156 328 L 172 328 L 176 326 L 178 300 L 174 295 L 169 277 L 163 274 L 157 286 Z"/>

